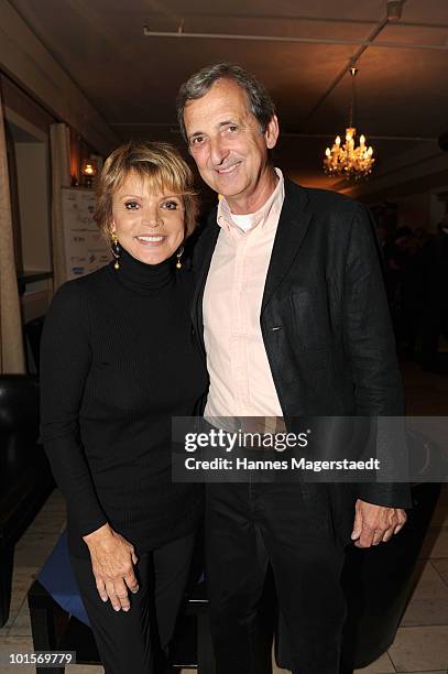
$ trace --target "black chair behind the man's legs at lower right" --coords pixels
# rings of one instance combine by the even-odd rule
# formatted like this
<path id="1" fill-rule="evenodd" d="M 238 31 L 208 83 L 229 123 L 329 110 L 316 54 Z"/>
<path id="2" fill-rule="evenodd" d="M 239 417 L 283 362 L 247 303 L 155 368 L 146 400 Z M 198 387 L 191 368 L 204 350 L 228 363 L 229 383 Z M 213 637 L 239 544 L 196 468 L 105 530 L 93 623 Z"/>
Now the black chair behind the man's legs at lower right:
<path id="1" fill-rule="evenodd" d="M 418 580 L 416 562 L 439 493 L 439 483 L 415 485 L 413 509 L 400 534 L 378 547 L 349 550 L 342 576 L 348 602 L 343 674 L 368 666 L 392 645 Z M 289 642 L 281 618 L 275 655 L 277 664 L 288 670 Z"/>

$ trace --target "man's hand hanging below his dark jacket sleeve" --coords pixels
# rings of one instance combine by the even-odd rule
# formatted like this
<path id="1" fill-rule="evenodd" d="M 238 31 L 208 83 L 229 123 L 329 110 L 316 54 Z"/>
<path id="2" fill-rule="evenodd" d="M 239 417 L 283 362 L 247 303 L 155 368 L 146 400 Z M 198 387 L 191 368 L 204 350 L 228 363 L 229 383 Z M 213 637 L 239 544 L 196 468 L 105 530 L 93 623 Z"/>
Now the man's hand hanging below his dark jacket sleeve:
<path id="1" fill-rule="evenodd" d="M 351 540 L 357 547 L 386 543 L 403 528 L 406 513 L 402 508 L 386 508 L 357 500 Z"/>

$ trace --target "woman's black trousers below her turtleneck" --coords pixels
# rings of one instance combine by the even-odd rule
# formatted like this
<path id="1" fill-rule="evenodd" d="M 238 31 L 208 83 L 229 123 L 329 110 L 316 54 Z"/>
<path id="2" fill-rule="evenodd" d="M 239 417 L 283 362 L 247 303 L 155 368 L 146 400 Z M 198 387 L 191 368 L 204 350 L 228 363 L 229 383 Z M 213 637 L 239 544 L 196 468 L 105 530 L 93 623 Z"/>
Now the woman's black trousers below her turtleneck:
<path id="1" fill-rule="evenodd" d="M 90 559 L 70 558 L 106 674 L 165 672 L 163 652 L 184 598 L 195 537 L 193 533 L 140 555 L 139 591 L 129 593 L 128 612 L 114 611 L 110 601 L 100 599 Z"/>

